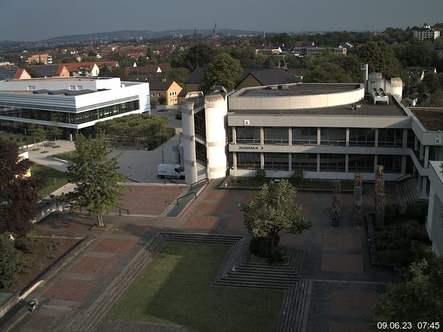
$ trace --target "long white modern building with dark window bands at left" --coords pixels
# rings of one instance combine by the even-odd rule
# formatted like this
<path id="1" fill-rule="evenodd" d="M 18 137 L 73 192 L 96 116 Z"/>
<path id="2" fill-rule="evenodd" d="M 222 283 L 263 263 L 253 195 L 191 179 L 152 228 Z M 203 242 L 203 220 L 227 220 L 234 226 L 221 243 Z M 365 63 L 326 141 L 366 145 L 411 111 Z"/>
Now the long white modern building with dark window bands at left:
<path id="1" fill-rule="evenodd" d="M 92 133 L 98 121 L 150 113 L 148 83 L 120 78 L 57 77 L 0 82 L 0 128 L 24 131 L 26 124 L 57 125 L 69 134 Z M 54 122 L 56 119 L 56 123 Z"/>

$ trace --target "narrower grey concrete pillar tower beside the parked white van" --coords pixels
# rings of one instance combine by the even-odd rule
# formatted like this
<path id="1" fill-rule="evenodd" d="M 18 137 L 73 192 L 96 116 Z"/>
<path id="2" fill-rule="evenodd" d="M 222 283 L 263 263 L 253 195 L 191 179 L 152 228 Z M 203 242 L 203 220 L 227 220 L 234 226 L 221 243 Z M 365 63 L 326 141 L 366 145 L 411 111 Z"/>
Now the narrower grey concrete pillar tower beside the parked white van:
<path id="1" fill-rule="evenodd" d="M 195 156 L 194 102 L 181 103 L 181 125 L 183 127 L 183 158 L 185 181 L 188 184 L 197 182 L 197 158 Z"/>

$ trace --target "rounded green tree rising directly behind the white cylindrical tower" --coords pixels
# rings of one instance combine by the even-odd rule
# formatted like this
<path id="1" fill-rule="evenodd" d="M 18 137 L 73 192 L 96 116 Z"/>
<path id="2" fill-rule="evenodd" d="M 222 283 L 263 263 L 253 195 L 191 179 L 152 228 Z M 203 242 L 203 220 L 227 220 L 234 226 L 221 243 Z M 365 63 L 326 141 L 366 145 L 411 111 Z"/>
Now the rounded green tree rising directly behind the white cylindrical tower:
<path id="1" fill-rule="evenodd" d="M 230 91 L 235 88 L 242 72 L 243 68 L 237 59 L 227 53 L 219 53 L 205 67 L 201 90 L 208 93 L 213 86 L 222 85 Z"/>

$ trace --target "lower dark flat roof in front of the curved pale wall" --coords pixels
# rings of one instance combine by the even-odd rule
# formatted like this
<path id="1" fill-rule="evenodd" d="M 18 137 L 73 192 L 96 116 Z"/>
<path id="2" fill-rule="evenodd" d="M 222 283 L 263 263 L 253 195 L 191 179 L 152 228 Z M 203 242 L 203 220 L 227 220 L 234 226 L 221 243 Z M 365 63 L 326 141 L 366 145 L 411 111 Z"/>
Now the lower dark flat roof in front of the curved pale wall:
<path id="1" fill-rule="evenodd" d="M 361 105 L 361 108 L 356 108 L 356 105 Z M 389 104 L 377 102 L 374 105 L 372 98 L 366 96 L 365 99 L 357 103 L 345 104 L 334 107 L 320 107 L 317 109 L 229 109 L 230 114 L 256 114 L 256 115 L 321 115 L 321 116 L 405 116 L 408 114 L 404 109 L 390 96 Z"/>

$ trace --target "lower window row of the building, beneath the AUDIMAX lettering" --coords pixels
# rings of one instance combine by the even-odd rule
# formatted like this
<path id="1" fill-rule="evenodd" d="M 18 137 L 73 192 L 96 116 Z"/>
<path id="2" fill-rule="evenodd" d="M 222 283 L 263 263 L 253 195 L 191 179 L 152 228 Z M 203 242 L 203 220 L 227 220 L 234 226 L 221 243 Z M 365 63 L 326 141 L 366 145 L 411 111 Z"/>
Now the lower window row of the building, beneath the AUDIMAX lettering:
<path id="1" fill-rule="evenodd" d="M 289 154 L 264 153 L 264 169 L 289 171 Z M 291 154 L 291 169 L 317 171 L 317 154 Z M 401 156 L 377 156 L 377 165 L 387 173 L 401 172 Z M 374 172 L 374 155 L 349 154 L 348 172 Z M 237 152 L 237 169 L 260 169 L 260 154 Z M 345 172 L 345 154 L 320 154 L 320 172 Z"/>

